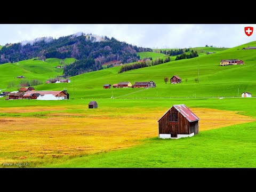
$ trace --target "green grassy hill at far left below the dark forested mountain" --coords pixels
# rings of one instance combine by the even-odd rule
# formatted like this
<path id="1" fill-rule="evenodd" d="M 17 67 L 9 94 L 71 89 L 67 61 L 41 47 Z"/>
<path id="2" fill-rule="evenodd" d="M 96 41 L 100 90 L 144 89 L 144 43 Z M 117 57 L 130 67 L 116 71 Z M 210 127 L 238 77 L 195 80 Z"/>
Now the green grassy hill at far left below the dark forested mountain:
<path id="1" fill-rule="evenodd" d="M 6 63 L 0 65 L 0 70 L 4 71 L 4 73 L 1 73 L 0 77 L 0 89 L 6 89 L 10 82 L 13 82 L 14 85 L 18 85 L 21 79 L 16 77 L 20 75 L 25 76 L 25 79 L 28 81 L 31 81 L 32 79 L 38 79 L 39 81 L 45 83 L 46 79 L 54 78 L 63 74 L 62 68 L 55 68 L 55 66 L 60 65 L 60 61 L 60 59 L 56 58 L 49 58 L 45 61 L 29 59 L 16 63 Z M 74 62 L 75 59 L 66 58 L 62 61 L 63 64 L 69 64 Z M 17 87 L 14 86 L 10 90 L 17 90 Z"/>

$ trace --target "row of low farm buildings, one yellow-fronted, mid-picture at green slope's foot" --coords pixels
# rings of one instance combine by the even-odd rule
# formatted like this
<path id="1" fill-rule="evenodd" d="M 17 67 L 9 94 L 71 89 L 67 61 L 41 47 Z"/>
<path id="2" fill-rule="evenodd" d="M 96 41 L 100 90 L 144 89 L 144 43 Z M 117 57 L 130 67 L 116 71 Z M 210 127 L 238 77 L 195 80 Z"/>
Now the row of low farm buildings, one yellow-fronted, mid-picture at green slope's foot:
<path id="1" fill-rule="evenodd" d="M 123 87 L 131 87 L 131 88 L 149 88 L 156 87 L 156 84 L 153 81 L 150 82 L 135 82 L 133 85 L 131 82 L 119 82 L 113 84 L 113 88 L 123 88 Z M 104 84 L 103 89 L 110 89 L 111 84 Z"/>

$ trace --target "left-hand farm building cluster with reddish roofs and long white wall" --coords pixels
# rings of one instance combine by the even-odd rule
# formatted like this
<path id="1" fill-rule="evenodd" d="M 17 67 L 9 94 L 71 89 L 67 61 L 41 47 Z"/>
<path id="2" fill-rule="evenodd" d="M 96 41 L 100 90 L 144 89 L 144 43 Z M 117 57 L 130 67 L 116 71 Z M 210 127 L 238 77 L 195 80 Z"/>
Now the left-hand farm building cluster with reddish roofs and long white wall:
<path id="1" fill-rule="evenodd" d="M 2 97 L 5 100 L 10 99 L 37 99 L 37 100 L 63 100 L 69 99 L 69 94 L 66 91 L 30 91 L 27 87 L 21 87 L 19 91 L 2 92 Z"/>

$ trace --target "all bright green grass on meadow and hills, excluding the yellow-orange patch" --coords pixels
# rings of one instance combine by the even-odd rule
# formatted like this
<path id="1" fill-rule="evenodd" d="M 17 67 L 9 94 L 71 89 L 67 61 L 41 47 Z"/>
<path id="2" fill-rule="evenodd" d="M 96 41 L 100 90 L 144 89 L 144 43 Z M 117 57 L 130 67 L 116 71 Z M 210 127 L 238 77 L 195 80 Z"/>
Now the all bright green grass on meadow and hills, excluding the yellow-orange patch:
<path id="1" fill-rule="evenodd" d="M 120 67 L 93 71 L 70 77 L 71 83 L 42 84 L 36 90 L 62 90 L 69 93 L 69 100 L 37 101 L 9 100 L 0 98 L 1 108 L 29 106 L 65 106 L 62 113 L 82 113 L 87 116 L 102 115 L 112 111 L 110 116 L 126 114 L 147 115 L 147 111 L 158 108 L 163 114 L 172 105 L 185 104 L 189 108 L 209 108 L 237 111 L 237 114 L 256 119 L 256 99 L 241 98 L 244 91 L 256 95 L 256 50 L 242 50 L 243 47 L 256 46 L 256 41 L 227 48 L 195 47 L 199 57 L 163 63 L 118 74 Z M 163 50 L 163 49 L 162 49 Z M 203 52 L 199 52 L 203 50 Z M 216 52 L 206 55 L 205 52 Z M 142 52 L 140 58 L 164 57 L 164 54 Z M 174 58 L 175 59 L 175 58 Z M 221 59 L 241 59 L 244 65 L 219 66 Z M 67 59 L 65 62 L 74 62 Z M 45 62 L 26 60 L 18 63 L 0 65 L 0 89 L 6 89 L 10 81 L 18 83 L 15 77 L 23 75 L 28 79 L 37 78 L 43 82 L 49 77 L 61 75 L 62 69 L 56 69 L 58 59 L 47 59 Z M 177 75 L 182 79 L 179 84 L 171 84 L 170 78 Z M 164 77 L 169 81 L 164 82 Z M 195 78 L 199 77 L 196 82 Z M 187 81 L 186 81 L 187 79 Z M 154 81 L 155 88 L 149 89 L 103 89 L 103 84 L 129 81 L 132 84 L 140 81 Z M 14 91 L 16 87 L 6 89 Z M 111 99 L 113 97 L 114 99 Z M 223 99 L 222 99 L 223 98 Z M 98 109 L 85 110 L 91 100 L 98 103 Z M 83 108 L 84 106 L 84 108 Z M 34 111 L 30 113 L 2 113 L 5 117 L 38 117 L 46 118 L 52 111 Z M 156 117 L 156 119 L 159 117 Z M 122 121 L 121 121 L 122 122 Z M 122 123 L 120 124 L 122 126 Z M 74 158 L 45 160 L 35 167 L 256 167 L 256 122 L 221 127 L 219 129 L 200 131 L 191 138 L 141 140 L 137 146 L 127 149 L 116 149 Z M 97 127 L 92 127 L 97 129 Z M 155 129 L 157 130 L 157 124 Z M 107 135 L 106 135 L 107 137 Z M 3 157 L 3 155 L 0 157 Z"/>

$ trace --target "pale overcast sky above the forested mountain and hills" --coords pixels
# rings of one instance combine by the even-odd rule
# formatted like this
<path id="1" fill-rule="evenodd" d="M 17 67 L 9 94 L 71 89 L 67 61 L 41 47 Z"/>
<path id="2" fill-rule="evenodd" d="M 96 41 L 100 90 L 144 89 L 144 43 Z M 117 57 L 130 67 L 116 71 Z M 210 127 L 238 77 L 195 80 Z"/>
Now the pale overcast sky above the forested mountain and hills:
<path id="1" fill-rule="evenodd" d="M 255 41 L 256 31 L 245 35 L 248 26 L 256 30 L 256 24 L 0 24 L 0 45 L 83 32 L 150 48 L 234 47 Z"/>

